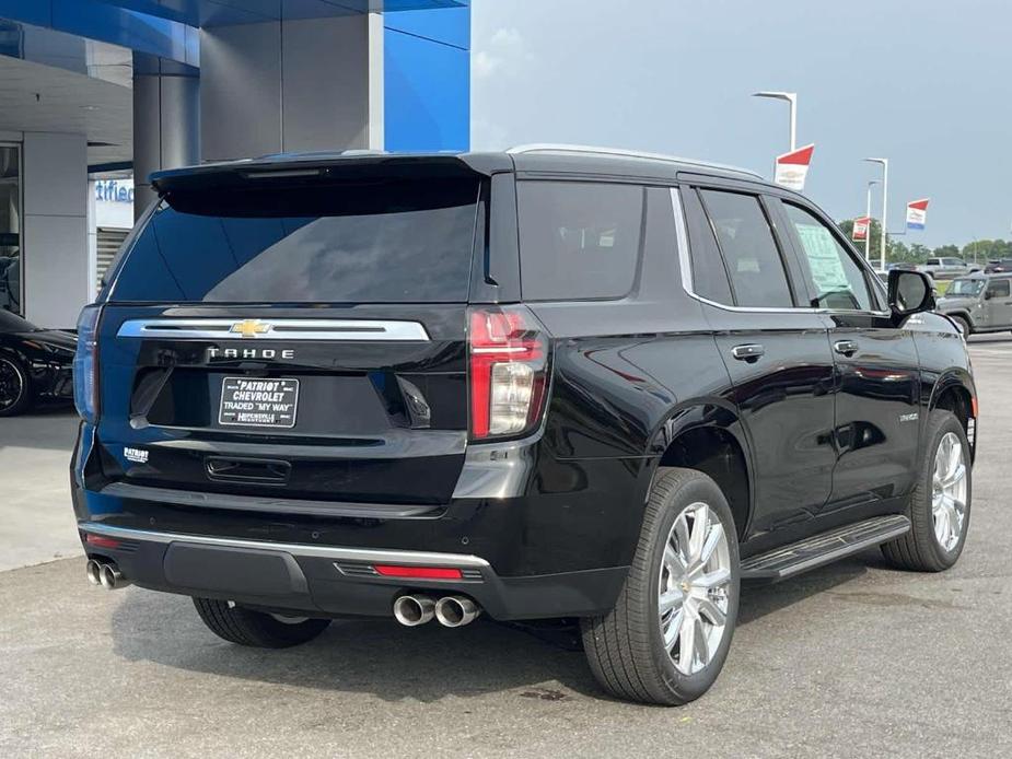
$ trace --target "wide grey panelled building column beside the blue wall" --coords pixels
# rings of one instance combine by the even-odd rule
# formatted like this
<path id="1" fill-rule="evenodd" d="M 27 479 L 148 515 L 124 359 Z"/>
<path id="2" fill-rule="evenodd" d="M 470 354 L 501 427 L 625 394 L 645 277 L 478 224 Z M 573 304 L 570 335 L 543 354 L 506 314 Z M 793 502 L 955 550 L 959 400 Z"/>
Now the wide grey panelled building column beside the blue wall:
<path id="1" fill-rule="evenodd" d="M 201 159 L 383 147 L 374 13 L 200 30 Z"/>

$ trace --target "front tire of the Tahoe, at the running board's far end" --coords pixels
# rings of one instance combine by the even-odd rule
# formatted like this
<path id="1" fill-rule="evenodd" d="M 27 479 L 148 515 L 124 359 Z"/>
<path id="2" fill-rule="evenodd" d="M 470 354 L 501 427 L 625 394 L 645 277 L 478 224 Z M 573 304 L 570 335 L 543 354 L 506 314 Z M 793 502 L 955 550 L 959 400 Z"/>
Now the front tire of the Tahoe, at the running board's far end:
<path id="1" fill-rule="evenodd" d="M 973 469 L 969 458 L 969 443 L 959 420 L 950 411 L 937 409 L 928 419 L 923 459 L 920 477 L 910 499 L 910 532 L 882 546 L 882 553 L 894 565 L 918 572 L 941 572 L 956 563 L 966 542 L 969 530 L 970 503 L 973 501 Z M 965 504 L 959 523 L 958 537 L 950 546 L 943 546 L 938 536 L 934 515 L 934 472 L 939 447 L 945 440 L 957 441 L 962 452 L 965 478 Z M 946 511 L 944 506 L 940 511 Z M 958 509 L 952 513 L 958 515 Z"/>

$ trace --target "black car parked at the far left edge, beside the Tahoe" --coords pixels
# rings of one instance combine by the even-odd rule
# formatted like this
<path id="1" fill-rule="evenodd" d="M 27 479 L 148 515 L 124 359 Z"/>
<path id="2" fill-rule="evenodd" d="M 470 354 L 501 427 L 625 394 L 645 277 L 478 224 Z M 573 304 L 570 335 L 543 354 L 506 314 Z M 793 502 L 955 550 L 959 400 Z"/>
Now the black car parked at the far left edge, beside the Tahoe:
<path id="1" fill-rule="evenodd" d="M 24 413 L 39 400 L 70 400 L 77 338 L 39 329 L 0 308 L 0 417 Z"/>

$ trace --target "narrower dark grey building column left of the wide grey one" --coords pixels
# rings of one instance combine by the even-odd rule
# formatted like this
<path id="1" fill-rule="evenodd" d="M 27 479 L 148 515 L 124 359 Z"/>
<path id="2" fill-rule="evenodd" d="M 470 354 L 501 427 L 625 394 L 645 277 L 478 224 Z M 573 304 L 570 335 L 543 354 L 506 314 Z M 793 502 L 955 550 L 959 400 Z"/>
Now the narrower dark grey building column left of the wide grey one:
<path id="1" fill-rule="evenodd" d="M 237 128 L 234 120 L 230 128 Z M 133 218 L 139 219 L 155 198 L 152 173 L 199 162 L 199 71 L 135 52 Z"/>

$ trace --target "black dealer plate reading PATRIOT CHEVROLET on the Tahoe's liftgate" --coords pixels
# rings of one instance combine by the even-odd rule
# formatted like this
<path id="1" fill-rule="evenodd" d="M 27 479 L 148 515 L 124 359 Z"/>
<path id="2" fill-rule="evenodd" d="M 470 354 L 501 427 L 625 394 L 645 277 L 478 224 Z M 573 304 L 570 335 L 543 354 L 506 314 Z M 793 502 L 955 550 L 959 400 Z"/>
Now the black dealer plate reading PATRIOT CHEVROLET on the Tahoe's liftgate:
<path id="1" fill-rule="evenodd" d="M 237 398 L 237 393 L 248 393 L 251 397 Z M 280 397 L 271 399 L 274 396 Z M 228 376 L 221 380 L 218 423 L 223 427 L 291 430 L 298 416 L 299 381 L 294 377 Z"/>

